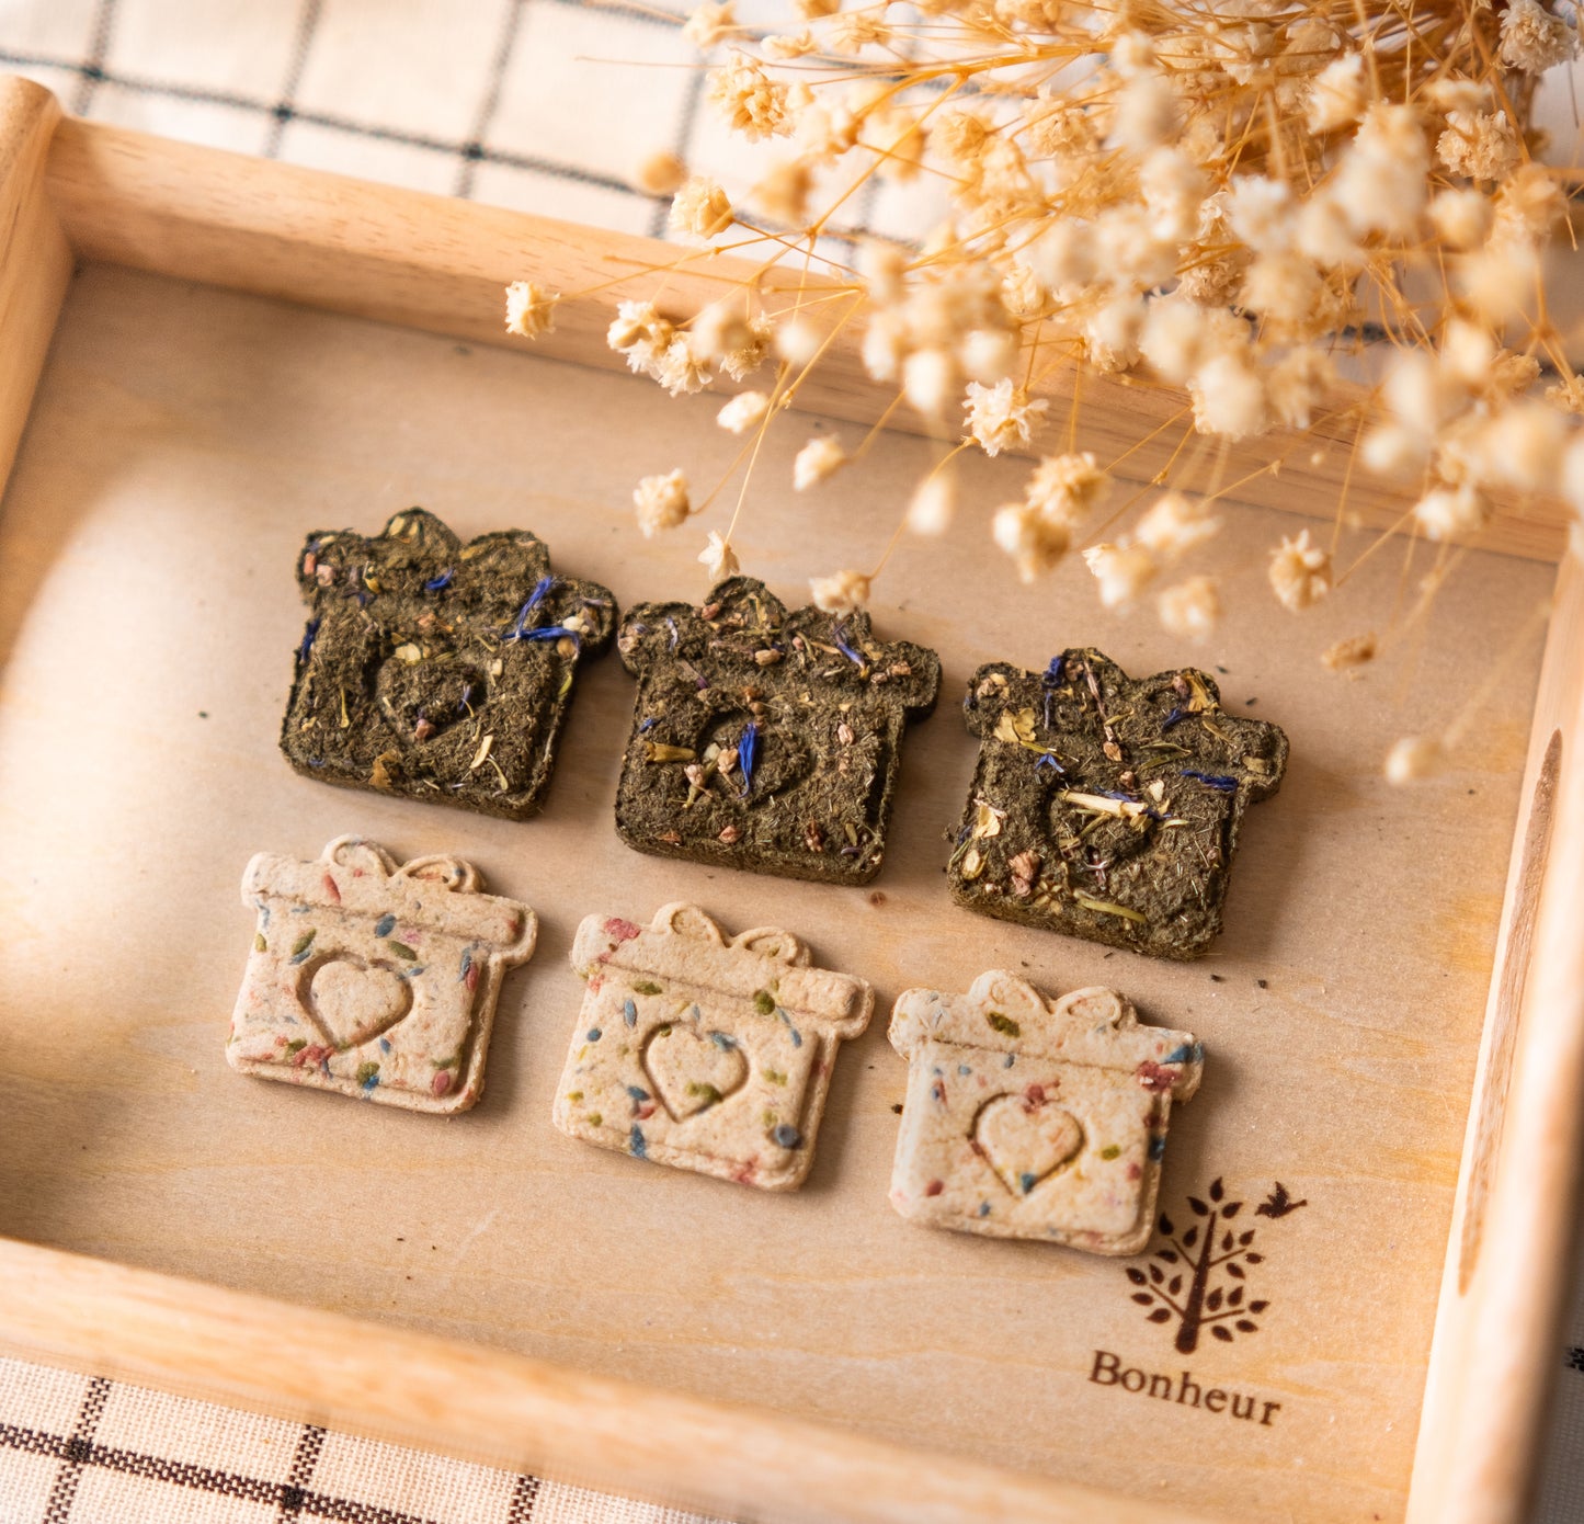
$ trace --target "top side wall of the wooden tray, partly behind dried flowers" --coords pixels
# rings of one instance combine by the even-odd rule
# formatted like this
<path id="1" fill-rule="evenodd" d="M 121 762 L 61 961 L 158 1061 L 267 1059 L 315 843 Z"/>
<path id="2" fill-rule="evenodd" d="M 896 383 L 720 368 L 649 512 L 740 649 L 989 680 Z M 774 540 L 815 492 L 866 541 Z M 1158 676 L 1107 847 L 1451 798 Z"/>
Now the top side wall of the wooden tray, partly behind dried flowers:
<path id="1" fill-rule="evenodd" d="M 526 347 L 504 330 L 502 290 L 510 280 L 532 279 L 564 298 L 556 331 L 537 342 L 539 352 L 607 369 L 626 364 L 605 344 L 618 301 L 649 299 L 664 288 L 664 309 L 691 317 L 763 258 L 757 244 L 737 257 L 706 255 L 675 268 L 684 252 L 675 244 L 89 122 L 63 122 L 55 135 L 49 193 L 73 247 L 92 258 L 488 344 Z M 719 242 L 730 249 L 743 238 L 733 231 Z M 657 271 L 667 272 L 664 280 Z M 771 311 L 790 303 L 797 280 L 789 271 L 767 277 Z M 846 298 L 816 303 L 809 320 L 817 326 L 847 311 Z M 800 407 L 862 421 L 889 409 L 892 396 L 868 380 L 859 360 L 860 336 L 862 322 L 851 322 L 836 336 L 802 388 Z M 1061 364 L 1039 383 L 1052 404 L 1047 448 L 1069 415 L 1074 375 L 1071 364 Z M 1218 447 L 1205 447 L 1198 475 L 1178 485 L 1242 483 L 1232 493 L 1242 502 L 1327 518 L 1346 496 L 1361 523 L 1400 526 L 1411 486 L 1354 471 L 1357 415 L 1350 409 L 1357 401 L 1356 390 L 1338 387 L 1327 409 L 1316 413 L 1310 436 L 1278 431 L 1243 440 L 1224 451 L 1220 467 Z M 1177 388 L 1091 374 L 1082 382 L 1080 444 L 1102 464 L 1115 463 L 1121 480 L 1152 482 L 1178 461 L 1180 447 L 1182 459 L 1201 453 L 1185 409 L 1186 398 Z M 908 407 L 895 409 L 890 420 L 895 428 L 925 428 Z M 954 436 L 958 423 L 949 423 Z M 1034 444 L 1038 448 L 1041 440 Z M 1280 464 L 1278 472 L 1262 471 L 1272 463 Z M 1479 543 L 1554 561 L 1565 528 L 1560 502 L 1508 497 Z"/>

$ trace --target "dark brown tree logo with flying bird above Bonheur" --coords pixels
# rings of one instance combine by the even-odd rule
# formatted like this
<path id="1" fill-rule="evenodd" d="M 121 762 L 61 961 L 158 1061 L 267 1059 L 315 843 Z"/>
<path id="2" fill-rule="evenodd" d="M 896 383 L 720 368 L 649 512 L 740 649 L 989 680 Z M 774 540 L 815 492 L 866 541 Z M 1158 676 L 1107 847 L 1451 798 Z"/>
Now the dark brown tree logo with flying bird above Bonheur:
<path id="1" fill-rule="evenodd" d="M 1144 1269 L 1128 1266 L 1128 1280 L 1139 1288 L 1133 1299 L 1152 1309 L 1148 1321 L 1177 1320 L 1177 1350 L 1182 1354 L 1199 1348 L 1199 1335 L 1205 1329 L 1223 1343 L 1231 1343 L 1239 1334 L 1258 1334 L 1255 1320 L 1270 1305 L 1248 1296 L 1248 1267 L 1262 1264 L 1264 1255 L 1255 1248 L 1256 1228 L 1232 1226 L 1243 1202 L 1226 1199 L 1220 1177 L 1210 1182 L 1205 1194 L 1209 1201 L 1188 1198 L 1193 1221 L 1180 1234 L 1163 1212 L 1159 1226 L 1166 1244 L 1150 1255 Z M 1255 1207 L 1255 1215 L 1286 1217 L 1304 1206 L 1308 1202 L 1293 1201 L 1278 1183 Z"/>

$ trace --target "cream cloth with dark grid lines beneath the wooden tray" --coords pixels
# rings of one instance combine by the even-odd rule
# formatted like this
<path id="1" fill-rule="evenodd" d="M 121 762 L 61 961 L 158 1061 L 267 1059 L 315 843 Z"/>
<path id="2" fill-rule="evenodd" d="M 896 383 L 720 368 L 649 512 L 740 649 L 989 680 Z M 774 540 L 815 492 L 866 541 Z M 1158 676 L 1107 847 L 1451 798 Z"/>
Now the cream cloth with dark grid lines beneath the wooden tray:
<path id="1" fill-rule="evenodd" d="M 762 155 L 703 109 L 686 0 L 0 0 L 0 68 L 100 122 L 626 233 L 668 147 L 741 196 Z M 670 13 L 670 14 L 667 14 Z M 749 27 L 790 10 L 738 0 Z M 838 234 L 909 238 L 927 193 L 871 185 Z M 531 276 L 532 271 L 523 271 Z M 1535 1524 L 1584 1519 L 1574 1291 Z M 0 1524 L 687 1524 L 695 1516 L 318 1427 L 0 1361 Z"/>

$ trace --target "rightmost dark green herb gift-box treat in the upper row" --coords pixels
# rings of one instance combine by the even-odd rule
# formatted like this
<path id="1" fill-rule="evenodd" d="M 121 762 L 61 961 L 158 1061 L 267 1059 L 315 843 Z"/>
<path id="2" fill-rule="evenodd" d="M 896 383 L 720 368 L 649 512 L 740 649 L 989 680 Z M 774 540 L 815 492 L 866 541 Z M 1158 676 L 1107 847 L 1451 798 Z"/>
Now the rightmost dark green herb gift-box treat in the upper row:
<path id="1" fill-rule="evenodd" d="M 1044 672 L 968 681 L 979 762 L 947 882 L 958 905 L 1159 958 L 1201 957 L 1243 814 L 1286 770 L 1288 740 L 1228 714 L 1194 667 L 1129 678 L 1093 650 Z"/>

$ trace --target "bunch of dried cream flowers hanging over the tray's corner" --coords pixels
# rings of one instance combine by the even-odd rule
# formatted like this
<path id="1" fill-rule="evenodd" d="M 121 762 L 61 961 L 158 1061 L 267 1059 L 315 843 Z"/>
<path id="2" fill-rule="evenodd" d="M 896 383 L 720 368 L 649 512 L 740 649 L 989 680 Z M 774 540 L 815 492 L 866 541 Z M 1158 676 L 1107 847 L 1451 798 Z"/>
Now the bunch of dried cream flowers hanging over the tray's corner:
<path id="1" fill-rule="evenodd" d="M 680 234 L 732 230 L 771 260 L 691 320 L 624 301 L 610 328 L 632 369 L 672 393 L 773 358 L 775 383 L 725 402 L 722 428 L 757 439 L 851 322 L 870 377 L 936 437 L 960 426 L 985 455 L 1042 451 L 1049 382 L 1080 361 L 1180 388 L 1183 444 L 1198 432 L 1215 451 L 1326 423 L 1334 352 L 1376 325 L 1400 360 L 1357 456 L 1415 483 L 1421 534 L 1478 534 L 1500 493 L 1560 491 L 1584 510 L 1584 379 L 1538 287 L 1565 182 L 1538 162 L 1527 120 L 1535 78 L 1578 51 L 1571 6 L 794 0 L 789 13 L 782 33 L 756 40 L 732 0 L 706 0 L 684 29 L 711 51 L 710 106 L 749 141 L 775 139 L 744 206 L 670 155 L 637 171 L 673 195 Z M 914 177 L 942 187 L 917 246 L 870 239 L 811 304 L 771 299 L 776 253 L 817 258 L 840 201 L 871 179 Z M 824 187 L 835 204 L 817 204 Z M 757 228 L 760 215 L 773 225 Z M 548 331 L 556 299 L 518 282 L 508 326 Z M 1536 394 L 1543 364 L 1557 374 Z M 992 520 L 1025 580 L 1066 554 L 1110 482 L 1080 448 L 1079 394 L 1072 407 L 1066 453 L 1045 455 L 1023 501 Z M 846 459 L 835 440 L 811 440 L 795 486 Z M 1107 607 L 1220 528 L 1163 485 L 1129 531 L 1085 550 Z M 936 467 L 908 526 L 942 532 L 955 497 L 957 478 Z M 646 528 L 678 520 L 653 502 L 640 513 Z M 721 542 L 700 559 L 727 556 Z M 1269 580 L 1302 610 L 1335 577 L 1304 532 L 1270 553 Z M 841 572 L 816 596 L 855 607 L 868 583 Z M 1220 615 L 1202 575 L 1156 607 L 1183 635 Z"/>

